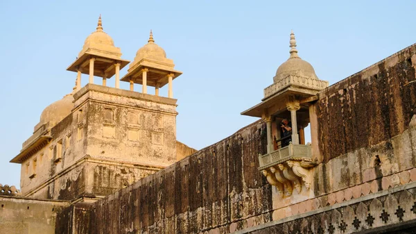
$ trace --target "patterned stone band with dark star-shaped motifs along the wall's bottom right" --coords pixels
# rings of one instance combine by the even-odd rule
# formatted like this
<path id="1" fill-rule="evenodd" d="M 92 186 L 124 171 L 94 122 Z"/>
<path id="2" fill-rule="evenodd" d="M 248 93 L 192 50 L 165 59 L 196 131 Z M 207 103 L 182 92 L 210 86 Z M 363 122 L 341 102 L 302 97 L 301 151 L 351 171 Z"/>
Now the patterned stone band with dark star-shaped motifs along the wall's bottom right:
<path id="1" fill-rule="evenodd" d="M 393 194 L 378 192 L 363 197 L 363 201 L 316 210 L 306 217 L 297 215 L 283 223 L 259 225 L 236 233 L 414 233 L 416 213 L 410 205 L 416 200 L 410 190 L 401 187 L 400 192 Z M 397 203 L 395 197 L 400 197 L 404 206 Z M 380 200 L 385 201 L 384 204 Z"/>

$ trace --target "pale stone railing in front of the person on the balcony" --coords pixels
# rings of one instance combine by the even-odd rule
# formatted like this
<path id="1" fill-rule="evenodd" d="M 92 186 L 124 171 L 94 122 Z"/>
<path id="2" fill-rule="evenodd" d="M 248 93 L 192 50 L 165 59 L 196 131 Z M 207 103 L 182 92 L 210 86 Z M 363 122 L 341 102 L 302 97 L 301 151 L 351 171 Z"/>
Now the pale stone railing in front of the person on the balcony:
<path id="1" fill-rule="evenodd" d="M 289 143 L 287 147 L 259 156 L 259 170 L 281 164 L 288 160 L 311 162 L 311 145 Z"/>

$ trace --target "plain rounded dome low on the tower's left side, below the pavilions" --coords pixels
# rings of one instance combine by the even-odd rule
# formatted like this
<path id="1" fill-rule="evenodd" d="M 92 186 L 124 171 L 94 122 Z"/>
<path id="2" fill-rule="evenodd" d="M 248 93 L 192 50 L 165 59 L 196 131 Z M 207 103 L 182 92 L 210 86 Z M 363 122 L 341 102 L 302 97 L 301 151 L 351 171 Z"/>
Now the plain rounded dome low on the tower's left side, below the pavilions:
<path id="1" fill-rule="evenodd" d="M 65 97 L 59 101 L 55 101 L 51 105 L 47 106 L 40 115 L 40 123 L 46 124 L 51 122 L 51 126 L 55 126 L 59 122 L 71 114 L 73 108 L 73 96 L 72 94 L 67 94 Z"/>

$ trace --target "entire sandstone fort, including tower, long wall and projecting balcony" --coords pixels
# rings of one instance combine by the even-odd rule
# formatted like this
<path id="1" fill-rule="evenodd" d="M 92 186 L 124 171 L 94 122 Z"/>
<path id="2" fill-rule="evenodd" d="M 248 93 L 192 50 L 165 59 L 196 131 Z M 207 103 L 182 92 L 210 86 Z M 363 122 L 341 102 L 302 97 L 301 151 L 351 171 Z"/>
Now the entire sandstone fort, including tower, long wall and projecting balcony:
<path id="1" fill-rule="evenodd" d="M 0 184 L 0 233 L 415 233 L 416 44 L 331 86 L 293 31 L 290 48 L 241 113 L 260 119 L 196 151 L 176 140 L 182 72 L 150 31 L 120 78 L 100 17 L 67 69 L 76 86 L 11 160 L 21 192 Z"/>

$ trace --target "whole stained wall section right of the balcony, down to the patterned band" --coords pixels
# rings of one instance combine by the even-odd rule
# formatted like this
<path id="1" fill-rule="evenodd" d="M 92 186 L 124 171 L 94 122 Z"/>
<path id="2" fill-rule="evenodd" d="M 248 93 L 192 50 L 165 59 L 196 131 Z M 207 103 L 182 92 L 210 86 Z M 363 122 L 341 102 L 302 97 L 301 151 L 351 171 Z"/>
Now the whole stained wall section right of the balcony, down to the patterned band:
<path id="1" fill-rule="evenodd" d="M 316 197 L 409 181 L 416 167 L 416 83 L 409 83 L 415 67 L 412 45 L 320 92 L 315 105 L 324 163 L 315 168 Z"/>

